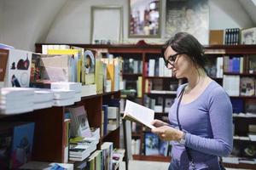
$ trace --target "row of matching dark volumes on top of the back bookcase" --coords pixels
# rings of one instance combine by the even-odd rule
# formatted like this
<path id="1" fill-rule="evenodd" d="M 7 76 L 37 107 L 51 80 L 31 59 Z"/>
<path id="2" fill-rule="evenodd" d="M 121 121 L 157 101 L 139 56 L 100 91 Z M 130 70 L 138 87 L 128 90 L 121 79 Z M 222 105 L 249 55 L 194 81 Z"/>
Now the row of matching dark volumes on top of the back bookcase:
<path id="1" fill-rule="evenodd" d="M 224 44 L 237 45 L 240 43 L 240 29 L 239 28 L 228 28 L 225 29 Z"/>

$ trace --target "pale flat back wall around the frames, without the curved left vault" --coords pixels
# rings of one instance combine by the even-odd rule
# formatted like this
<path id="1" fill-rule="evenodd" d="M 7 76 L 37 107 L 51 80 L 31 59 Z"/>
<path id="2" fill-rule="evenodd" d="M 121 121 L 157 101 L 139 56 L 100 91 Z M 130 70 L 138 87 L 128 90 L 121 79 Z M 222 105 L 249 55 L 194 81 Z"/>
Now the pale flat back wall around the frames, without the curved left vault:
<path id="1" fill-rule="evenodd" d="M 124 8 L 124 39 L 123 42 L 137 42 L 137 38 L 128 38 L 128 0 L 69 0 L 57 16 L 49 31 L 46 42 L 90 43 L 90 6 L 92 5 L 122 5 Z M 163 0 L 162 8 L 165 8 Z M 244 8 L 237 0 L 209 0 L 210 29 L 224 29 L 229 27 L 251 27 L 252 20 L 247 16 Z M 162 23 L 165 23 L 165 10 Z M 162 28 L 165 28 L 162 25 Z M 108 26 L 106 26 L 108 31 Z M 165 29 L 160 38 L 146 39 L 147 42 L 164 42 Z"/>

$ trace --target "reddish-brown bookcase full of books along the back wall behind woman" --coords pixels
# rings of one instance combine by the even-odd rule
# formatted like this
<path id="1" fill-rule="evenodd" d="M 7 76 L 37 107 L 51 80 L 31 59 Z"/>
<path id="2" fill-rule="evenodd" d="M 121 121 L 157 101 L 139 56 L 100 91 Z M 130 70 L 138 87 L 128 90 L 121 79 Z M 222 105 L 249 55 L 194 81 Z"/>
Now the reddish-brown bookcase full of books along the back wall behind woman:
<path id="1" fill-rule="evenodd" d="M 233 42 L 229 43 L 236 43 L 235 38 Z M 38 52 L 41 52 L 42 45 L 44 44 L 36 44 Z M 73 44 L 68 45 L 72 46 Z M 162 59 L 160 59 L 161 45 L 79 44 L 79 47 L 107 48 L 108 53 L 113 54 L 113 57 L 122 56 L 124 59 L 125 99 L 154 110 L 154 118 L 168 122 L 168 111 L 176 98 L 177 87 L 183 83 L 183 80 L 177 81 L 175 77 L 172 77 L 171 71 L 163 69 L 165 67 L 162 66 Z M 252 161 L 254 147 L 252 145 L 255 143 L 253 142 L 255 132 L 253 125 L 255 125 L 256 117 L 254 74 L 256 47 L 254 45 L 210 45 L 205 48 L 205 54 L 209 60 L 208 75 L 223 85 L 230 95 L 234 112 L 234 143 L 237 141 L 240 146 L 236 147 L 238 148 L 236 150 L 240 150 L 241 154 L 224 158 L 224 165 L 226 167 L 254 169 L 255 165 Z M 141 67 L 142 69 L 140 69 Z M 138 77 L 141 77 L 139 81 L 141 81 L 142 88 L 137 88 Z M 142 90 L 142 98 L 137 98 L 137 89 Z M 121 111 L 125 111 L 125 99 L 121 99 Z M 156 140 L 158 141 L 158 156 L 151 154 L 147 156 L 148 150 L 146 148 L 148 145 L 146 143 L 148 138 L 154 138 L 148 134 L 150 129 L 143 127 L 141 123 L 132 122 L 131 130 L 134 159 L 170 161 L 171 156 L 168 153 L 172 147 L 170 144 L 160 146 L 161 141 Z M 147 141 L 145 141 L 146 137 Z M 241 146 L 241 141 L 245 139 L 247 139 L 246 147 Z M 149 153 L 151 151 L 149 150 Z M 230 161 L 233 158 L 237 158 L 238 161 L 236 163 Z"/>

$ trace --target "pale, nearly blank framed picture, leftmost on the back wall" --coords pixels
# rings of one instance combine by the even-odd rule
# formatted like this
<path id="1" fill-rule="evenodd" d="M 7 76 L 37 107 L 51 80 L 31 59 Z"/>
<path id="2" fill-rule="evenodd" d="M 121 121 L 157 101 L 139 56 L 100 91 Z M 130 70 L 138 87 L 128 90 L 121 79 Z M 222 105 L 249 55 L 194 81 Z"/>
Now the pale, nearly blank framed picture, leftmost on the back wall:
<path id="1" fill-rule="evenodd" d="M 122 41 L 123 8 L 120 6 L 92 6 L 90 14 L 90 42 L 113 44 Z"/>

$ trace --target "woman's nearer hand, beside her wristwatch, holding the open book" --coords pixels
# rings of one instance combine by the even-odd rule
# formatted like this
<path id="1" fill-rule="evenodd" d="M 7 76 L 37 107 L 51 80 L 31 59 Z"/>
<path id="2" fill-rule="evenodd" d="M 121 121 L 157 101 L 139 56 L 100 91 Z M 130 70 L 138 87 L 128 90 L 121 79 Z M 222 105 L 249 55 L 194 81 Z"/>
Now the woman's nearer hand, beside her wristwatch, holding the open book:
<path id="1" fill-rule="evenodd" d="M 183 132 L 176 128 L 169 126 L 155 127 L 151 129 L 152 133 L 157 134 L 162 140 L 176 140 L 179 141 L 183 138 Z"/>

